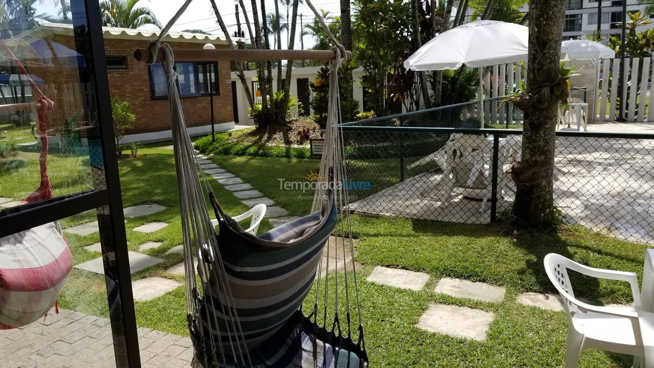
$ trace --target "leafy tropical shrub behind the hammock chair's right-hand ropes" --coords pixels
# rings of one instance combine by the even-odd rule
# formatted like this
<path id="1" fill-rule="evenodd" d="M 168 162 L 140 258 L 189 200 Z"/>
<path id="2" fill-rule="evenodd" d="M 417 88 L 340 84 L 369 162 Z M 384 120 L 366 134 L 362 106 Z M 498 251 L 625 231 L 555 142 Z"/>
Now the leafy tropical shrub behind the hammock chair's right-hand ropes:
<path id="1" fill-rule="evenodd" d="M 349 98 L 352 94 L 352 70 L 354 66 L 352 63 L 346 63 L 338 69 L 338 88 L 341 96 L 341 117 L 343 122 L 353 121 L 356 114 L 358 114 L 359 102 L 354 98 Z M 318 71 L 316 79 L 311 83 L 311 91 L 313 92 L 313 100 L 311 100 L 311 108 L 315 113 L 315 122 L 324 129 L 327 125 L 327 111 L 329 107 L 329 69 L 321 67 Z"/>

